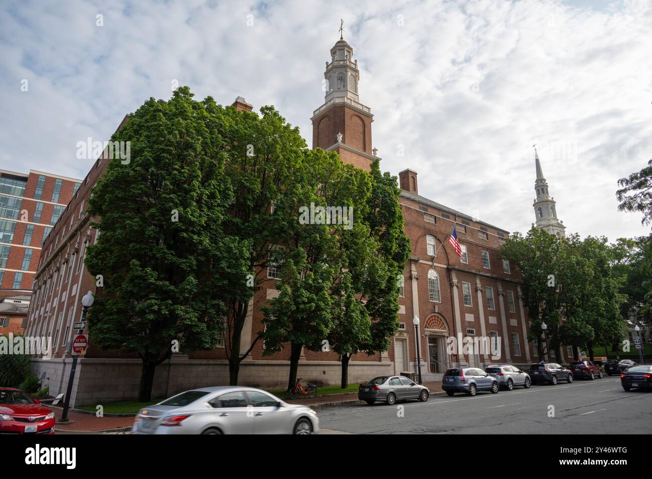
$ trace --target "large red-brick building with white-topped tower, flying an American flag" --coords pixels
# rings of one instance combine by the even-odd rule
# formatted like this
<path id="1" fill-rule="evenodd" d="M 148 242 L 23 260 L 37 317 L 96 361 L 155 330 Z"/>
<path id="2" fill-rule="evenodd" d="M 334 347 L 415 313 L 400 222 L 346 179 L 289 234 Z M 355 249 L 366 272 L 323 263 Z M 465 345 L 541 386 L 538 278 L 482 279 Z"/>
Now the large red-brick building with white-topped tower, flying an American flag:
<path id="1" fill-rule="evenodd" d="M 377 154 L 372 147 L 373 115 L 368 106 L 359 102 L 359 70 L 352 57 L 353 48 L 340 38 L 331 49 L 331 61 L 325 68 L 328 87 L 324 104 L 312 116 L 313 147 L 336 151 L 344 162 L 369 169 Z M 241 97 L 233 106 L 252 109 Z M 33 360 L 33 370 L 39 375 L 46 373 L 45 384 L 55 394 L 65 391 L 67 386 L 70 356 L 66 346 L 73 333 L 72 323 L 81 316 L 81 297 L 86 291 L 95 293 L 95 279 L 83 267 L 83 259 L 86 246 L 96 241 L 98 232 L 90 227 L 91 218 L 85 206 L 90 189 L 107 162 L 100 158 L 91 168 L 54 225 L 38 263 L 27 329 L 33 335 L 53 337 L 53 358 Z M 507 231 L 419 196 L 415 171 L 406 169 L 399 176 L 403 190 L 400 203 L 413 251 L 406 264 L 399 301 L 400 330 L 389 351 L 353 356 L 349 381 L 415 370 L 415 315 L 421 319 L 420 357 L 426 379 L 436 379 L 451 364 L 488 364 L 486 355 L 480 353 L 449 352 L 447 338 L 458 333 L 464 337 L 492 338 L 496 345 L 501 345 L 499 362 L 526 364 L 538 359 L 526 340 L 529 324 L 520 302 L 518 272 L 497 259 Z M 466 261 L 460 261 L 447 242 L 453 225 Z M 265 281 L 250 303 L 241 351 L 250 347 L 252 338 L 263 328 L 263 315 L 258 308 L 278 294 L 277 273 L 274 268 L 259 272 Z M 258 341 L 241 363 L 241 384 L 266 388 L 284 385 L 289 348 L 265 357 L 263 348 L 264 343 Z M 332 351 L 301 353 L 299 375 L 308 381 L 339 383 L 340 368 L 338 356 Z M 72 404 L 135 398 L 140 373 L 141 361 L 136 355 L 100 351 L 93 347 L 91 337 L 87 353 L 78 362 Z M 160 364 L 156 368 L 153 397 L 224 384 L 228 384 L 228 361 L 222 341 L 212 351 L 176 353 Z"/>

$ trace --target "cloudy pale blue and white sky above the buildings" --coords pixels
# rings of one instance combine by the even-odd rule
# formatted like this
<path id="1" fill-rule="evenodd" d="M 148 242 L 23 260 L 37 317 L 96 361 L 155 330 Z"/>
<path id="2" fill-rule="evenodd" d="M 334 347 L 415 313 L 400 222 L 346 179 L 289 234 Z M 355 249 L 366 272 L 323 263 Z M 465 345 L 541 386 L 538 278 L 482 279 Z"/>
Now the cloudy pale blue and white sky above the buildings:
<path id="1" fill-rule="evenodd" d="M 647 0 L 3 1 L 0 169 L 82 179 L 78 141 L 175 85 L 274 105 L 312 147 L 340 18 L 383 171 L 525 232 L 536 144 L 567 233 L 649 233 L 615 199 L 652 157 Z"/>

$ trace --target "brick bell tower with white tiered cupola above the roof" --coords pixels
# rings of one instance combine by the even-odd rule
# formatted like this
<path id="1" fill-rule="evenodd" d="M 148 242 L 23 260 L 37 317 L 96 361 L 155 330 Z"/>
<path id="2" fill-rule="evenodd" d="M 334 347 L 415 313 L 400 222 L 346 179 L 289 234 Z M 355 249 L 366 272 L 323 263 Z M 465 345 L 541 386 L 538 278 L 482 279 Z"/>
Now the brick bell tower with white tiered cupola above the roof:
<path id="1" fill-rule="evenodd" d="M 342 38 L 331 48 L 326 62 L 324 104 L 312 113 L 312 147 L 336 151 L 345 163 L 370 170 L 376 160 L 372 149 L 374 115 L 358 98 L 360 72 L 353 48 Z"/>

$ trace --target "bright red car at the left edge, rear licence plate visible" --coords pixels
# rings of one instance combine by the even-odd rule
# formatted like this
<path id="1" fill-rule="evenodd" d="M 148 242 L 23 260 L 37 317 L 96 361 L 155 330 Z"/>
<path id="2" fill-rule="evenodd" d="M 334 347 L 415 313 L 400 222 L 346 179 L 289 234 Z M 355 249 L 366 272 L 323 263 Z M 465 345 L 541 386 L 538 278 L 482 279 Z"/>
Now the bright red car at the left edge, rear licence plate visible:
<path id="1" fill-rule="evenodd" d="M 16 388 L 0 388 L 0 434 L 54 434 L 54 413 Z"/>

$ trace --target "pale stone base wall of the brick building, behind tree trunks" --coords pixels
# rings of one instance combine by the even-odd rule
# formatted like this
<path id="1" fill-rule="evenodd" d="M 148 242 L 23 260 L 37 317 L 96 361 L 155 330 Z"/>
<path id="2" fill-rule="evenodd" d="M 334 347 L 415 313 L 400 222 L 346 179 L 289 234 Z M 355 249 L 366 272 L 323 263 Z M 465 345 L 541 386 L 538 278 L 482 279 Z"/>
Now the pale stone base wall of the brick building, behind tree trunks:
<path id="1" fill-rule="evenodd" d="M 57 396 L 66 392 L 71 364 L 71 358 L 33 359 L 32 371 L 39 377 L 46 373 L 42 385 L 50 386 L 50 394 Z M 303 378 L 304 384 L 338 385 L 341 371 L 339 361 L 300 361 L 298 377 Z M 263 389 L 284 388 L 288 373 L 289 361 L 244 360 L 240 364 L 239 385 Z M 349 384 L 393 373 L 393 362 L 349 362 Z M 137 359 L 80 358 L 70 405 L 137 399 L 140 375 L 141 362 Z M 156 367 L 152 398 L 168 398 L 188 389 L 228 383 L 229 365 L 226 360 L 190 360 L 187 356 L 174 356 Z"/>

